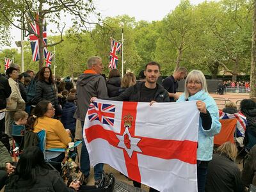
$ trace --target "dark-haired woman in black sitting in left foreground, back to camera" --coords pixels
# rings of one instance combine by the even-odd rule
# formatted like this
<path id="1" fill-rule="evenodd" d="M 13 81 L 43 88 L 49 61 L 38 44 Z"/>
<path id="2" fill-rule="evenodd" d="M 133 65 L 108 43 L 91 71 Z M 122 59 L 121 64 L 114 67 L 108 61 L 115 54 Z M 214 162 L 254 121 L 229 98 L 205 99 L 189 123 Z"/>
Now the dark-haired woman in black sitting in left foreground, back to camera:
<path id="1" fill-rule="evenodd" d="M 103 186 L 105 187 L 105 186 Z M 104 188 L 95 186 L 81 186 L 79 181 L 71 182 L 69 187 L 56 170 L 45 163 L 44 154 L 38 147 L 29 147 L 20 155 L 15 172 L 10 175 L 4 191 L 97 191 L 104 192 Z"/>

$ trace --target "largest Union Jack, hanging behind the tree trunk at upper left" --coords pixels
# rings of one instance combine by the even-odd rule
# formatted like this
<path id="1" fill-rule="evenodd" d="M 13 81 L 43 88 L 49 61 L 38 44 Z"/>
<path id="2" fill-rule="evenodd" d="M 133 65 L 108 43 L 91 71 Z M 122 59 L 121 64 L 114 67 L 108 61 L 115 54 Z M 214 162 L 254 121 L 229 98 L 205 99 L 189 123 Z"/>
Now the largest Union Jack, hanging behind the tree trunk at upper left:
<path id="1" fill-rule="evenodd" d="M 33 34 L 29 35 L 33 61 L 38 61 L 40 57 L 39 56 L 39 38 L 38 38 L 38 36 L 40 35 L 40 32 L 39 32 L 38 22 L 39 22 L 39 16 L 38 14 L 36 14 L 34 21 L 29 23 L 31 31 L 33 31 Z M 43 27 L 43 43 L 44 43 L 44 46 L 46 46 L 47 44 L 46 24 L 44 24 L 44 27 Z M 46 55 L 47 55 L 47 48 L 44 47 L 44 58 L 46 58 Z"/>

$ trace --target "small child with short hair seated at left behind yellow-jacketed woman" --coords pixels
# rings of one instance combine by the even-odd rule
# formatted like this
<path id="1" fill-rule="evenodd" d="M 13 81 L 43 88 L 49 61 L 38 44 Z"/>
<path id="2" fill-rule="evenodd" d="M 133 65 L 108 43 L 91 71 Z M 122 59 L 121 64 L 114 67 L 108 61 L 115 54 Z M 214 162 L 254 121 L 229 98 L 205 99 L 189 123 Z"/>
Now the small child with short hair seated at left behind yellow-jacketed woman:
<path id="1" fill-rule="evenodd" d="M 17 111 L 14 114 L 15 123 L 12 125 L 12 136 L 17 146 L 20 146 L 25 133 L 25 125 L 27 124 L 28 113 L 25 111 Z"/>

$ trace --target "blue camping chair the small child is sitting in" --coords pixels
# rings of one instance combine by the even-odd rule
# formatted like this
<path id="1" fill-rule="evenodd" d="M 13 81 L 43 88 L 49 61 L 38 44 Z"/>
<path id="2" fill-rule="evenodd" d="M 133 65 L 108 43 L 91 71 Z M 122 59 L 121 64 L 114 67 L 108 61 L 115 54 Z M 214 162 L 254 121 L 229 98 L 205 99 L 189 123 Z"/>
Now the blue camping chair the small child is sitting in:
<path id="1" fill-rule="evenodd" d="M 22 150 L 22 141 L 25 133 L 24 125 L 12 125 L 12 150 L 14 161 L 17 162 L 20 150 Z"/>

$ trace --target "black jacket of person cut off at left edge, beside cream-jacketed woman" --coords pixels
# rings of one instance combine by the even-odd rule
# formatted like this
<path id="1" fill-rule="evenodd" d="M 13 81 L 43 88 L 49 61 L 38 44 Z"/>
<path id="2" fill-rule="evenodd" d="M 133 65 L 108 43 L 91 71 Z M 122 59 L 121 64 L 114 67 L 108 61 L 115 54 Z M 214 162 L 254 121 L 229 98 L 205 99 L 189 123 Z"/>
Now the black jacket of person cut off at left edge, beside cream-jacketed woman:
<path id="1" fill-rule="evenodd" d="M 12 89 L 4 76 L 0 74 L 0 110 L 6 108 L 6 98 L 10 97 Z"/>

